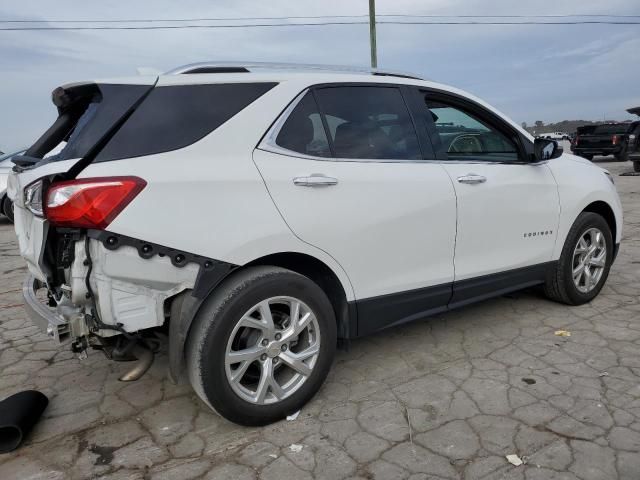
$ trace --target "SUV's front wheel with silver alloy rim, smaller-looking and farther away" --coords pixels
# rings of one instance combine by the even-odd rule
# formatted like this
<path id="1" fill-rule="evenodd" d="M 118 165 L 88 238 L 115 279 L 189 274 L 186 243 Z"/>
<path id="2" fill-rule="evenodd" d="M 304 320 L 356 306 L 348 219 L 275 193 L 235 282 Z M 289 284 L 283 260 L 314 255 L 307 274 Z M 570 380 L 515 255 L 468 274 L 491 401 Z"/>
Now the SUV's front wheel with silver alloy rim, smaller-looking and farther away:
<path id="1" fill-rule="evenodd" d="M 547 297 L 568 305 L 593 300 L 607 280 L 613 261 L 613 237 L 600 215 L 581 213 L 571 226 L 560 260 L 547 279 Z"/>

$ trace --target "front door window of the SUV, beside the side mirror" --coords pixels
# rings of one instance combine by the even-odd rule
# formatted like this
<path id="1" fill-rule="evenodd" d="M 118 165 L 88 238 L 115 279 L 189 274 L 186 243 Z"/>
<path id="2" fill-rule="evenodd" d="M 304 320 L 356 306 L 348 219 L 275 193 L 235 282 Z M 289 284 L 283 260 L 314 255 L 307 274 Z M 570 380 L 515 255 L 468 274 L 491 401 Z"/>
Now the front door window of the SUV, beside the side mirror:
<path id="1" fill-rule="evenodd" d="M 516 144 L 473 114 L 429 99 L 426 106 L 435 123 L 434 147 L 449 160 L 518 160 Z"/>

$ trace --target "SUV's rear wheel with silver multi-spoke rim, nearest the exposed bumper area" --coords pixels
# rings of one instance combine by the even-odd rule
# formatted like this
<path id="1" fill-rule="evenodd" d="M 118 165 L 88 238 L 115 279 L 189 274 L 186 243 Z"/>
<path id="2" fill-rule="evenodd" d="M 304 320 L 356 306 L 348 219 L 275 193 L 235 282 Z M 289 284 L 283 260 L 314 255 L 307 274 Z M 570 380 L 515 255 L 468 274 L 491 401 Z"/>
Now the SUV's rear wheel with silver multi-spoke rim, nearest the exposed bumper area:
<path id="1" fill-rule="evenodd" d="M 250 267 L 205 301 L 186 360 L 205 403 L 256 426 L 300 410 L 324 382 L 335 348 L 333 307 L 316 283 L 283 268 Z"/>

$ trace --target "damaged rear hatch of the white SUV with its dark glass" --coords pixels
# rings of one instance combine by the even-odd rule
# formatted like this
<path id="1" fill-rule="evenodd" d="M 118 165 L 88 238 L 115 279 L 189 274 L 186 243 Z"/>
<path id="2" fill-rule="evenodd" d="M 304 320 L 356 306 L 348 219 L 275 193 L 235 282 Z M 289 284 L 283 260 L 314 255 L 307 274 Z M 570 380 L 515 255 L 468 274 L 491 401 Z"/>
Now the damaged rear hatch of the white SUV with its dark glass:
<path id="1" fill-rule="evenodd" d="M 42 184 L 72 179 L 95 159 L 153 89 L 157 77 L 137 81 L 133 85 L 86 82 L 56 88 L 52 101 L 58 118 L 24 155 L 13 158 L 16 166 L 9 176 L 7 194 L 15 206 L 20 254 L 29 272 L 42 282 L 55 281 L 54 252 L 45 248 L 50 232 L 42 215 Z M 56 149 L 60 151 L 49 155 Z M 40 188 L 38 182 L 42 182 Z"/>

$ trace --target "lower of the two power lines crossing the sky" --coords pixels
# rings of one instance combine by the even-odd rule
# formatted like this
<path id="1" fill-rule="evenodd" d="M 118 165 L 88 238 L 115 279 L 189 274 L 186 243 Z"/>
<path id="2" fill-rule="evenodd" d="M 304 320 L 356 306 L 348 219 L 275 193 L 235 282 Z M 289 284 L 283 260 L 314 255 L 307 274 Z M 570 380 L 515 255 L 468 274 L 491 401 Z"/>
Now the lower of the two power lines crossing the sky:
<path id="1" fill-rule="evenodd" d="M 303 22 L 303 23 L 249 23 L 235 25 L 143 25 L 143 26 L 91 26 L 91 27 L 0 27 L 0 31 L 52 31 L 52 30 L 180 30 L 190 28 L 268 28 L 268 27 L 322 27 L 328 25 L 368 25 L 368 21 L 333 21 L 333 22 Z M 379 25 L 640 25 L 640 21 L 616 20 L 576 20 L 559 22 L 540 21 L 386 21 L 377 22 Z"/>

